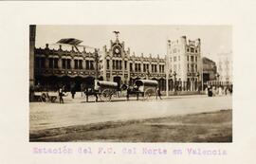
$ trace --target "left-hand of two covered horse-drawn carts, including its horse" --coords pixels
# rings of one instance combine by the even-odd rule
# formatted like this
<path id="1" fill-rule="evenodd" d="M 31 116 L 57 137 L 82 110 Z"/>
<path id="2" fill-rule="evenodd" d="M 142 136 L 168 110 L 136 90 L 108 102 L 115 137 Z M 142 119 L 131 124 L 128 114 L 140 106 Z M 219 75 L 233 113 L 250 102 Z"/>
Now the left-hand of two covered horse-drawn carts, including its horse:
<path id="1" fill-rule="evenodd" d="M 113 95 L 116 95 L 118 91 L 117 82 L 106 82 L 106 81 L 94 81 L 93 86 L 85 87 L 84 94 L 86 96 L 86 101 L 88 101 L 88 96 L 94 95 L 96 101 L 98 98 L 103 101 L 110 101 Z"/>

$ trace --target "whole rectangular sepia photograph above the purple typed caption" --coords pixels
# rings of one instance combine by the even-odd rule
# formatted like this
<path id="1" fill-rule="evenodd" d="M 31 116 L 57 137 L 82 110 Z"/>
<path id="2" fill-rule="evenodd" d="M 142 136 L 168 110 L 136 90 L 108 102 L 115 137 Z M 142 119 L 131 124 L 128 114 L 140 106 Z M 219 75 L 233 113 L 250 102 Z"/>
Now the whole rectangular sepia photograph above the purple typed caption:
<path id="1" fill-rule="evenodd" d="M 226 25 L 30 25 L 29 141 L 232 142 L 231 36 Z"/>

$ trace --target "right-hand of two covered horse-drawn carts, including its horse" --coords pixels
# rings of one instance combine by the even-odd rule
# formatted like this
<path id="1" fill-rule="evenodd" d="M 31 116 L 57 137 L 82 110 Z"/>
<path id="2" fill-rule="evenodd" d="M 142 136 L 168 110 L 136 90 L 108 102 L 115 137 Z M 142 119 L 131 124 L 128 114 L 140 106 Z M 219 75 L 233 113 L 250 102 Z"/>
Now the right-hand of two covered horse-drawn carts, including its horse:
<path id="1" fill-rule="evenodd" d="M 157 96 L 156 90 L 158 82 L 154 80 L 137 80 L 133 87 L 127 87 L 127 100 L 129 95 L 136 95 L 137 100 L 139 95 L 143 97 L 143 100 L 147 100 L 150 97 Z"/>

